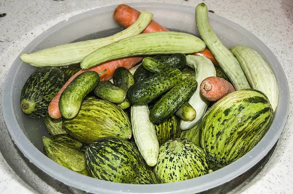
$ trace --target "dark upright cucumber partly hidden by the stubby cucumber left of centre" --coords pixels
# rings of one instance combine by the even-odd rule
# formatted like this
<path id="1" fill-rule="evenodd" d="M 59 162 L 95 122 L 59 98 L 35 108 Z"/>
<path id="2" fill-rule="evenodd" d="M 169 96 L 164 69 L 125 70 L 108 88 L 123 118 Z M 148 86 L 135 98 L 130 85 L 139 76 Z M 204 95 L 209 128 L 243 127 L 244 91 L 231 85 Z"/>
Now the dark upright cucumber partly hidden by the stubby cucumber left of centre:
<path id="1" fill-rule="evenodd" d="M 115 86 L 121 87 L 126 93 L 128 88 L 134 84 L 134 77 L 125 67 L 118 67 L 113 73 L 113 83 Z M 130 103 L 125 99 L 124 102 L 118 104 L 118 107 L 126 109 L 130 107 Z"/>

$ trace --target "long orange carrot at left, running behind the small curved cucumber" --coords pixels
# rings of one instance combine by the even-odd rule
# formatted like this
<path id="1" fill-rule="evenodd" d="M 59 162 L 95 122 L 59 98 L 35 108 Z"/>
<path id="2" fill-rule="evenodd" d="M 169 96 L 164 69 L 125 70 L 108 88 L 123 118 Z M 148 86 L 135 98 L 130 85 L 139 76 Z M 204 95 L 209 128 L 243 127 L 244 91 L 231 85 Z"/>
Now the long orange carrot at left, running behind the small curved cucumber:
<path id="1" fill-rule="evenodd" d="M 58 119 L 62 116 L 61 112 L 59 110 L 60 96 L 61 96 L 62 92 L 64 91 L 64 89 L 79 74 L 81 74 L 85 71 L 96 71 L 97 73 L 100 73 L 106 69 L 106 72 L 103 73 L 102 75 L 100 75 L 100 81 L 109 80 L 112 78 L 112 75 L 113 75 L 116 68 L 123 66 L 127 69 L 130 69 L 131 67 L 133 67 L 135 64 L 141 62 L 142 60 L 143 60 L 143 57 L 137 57 L 137 56 L 136 57 L 128 57 L 128 58 L 124 58 L 124 59 L 118 59 L 118 60 L 114 60 L 114 61 L 110 61 L 110 62 L 105 62 L 102 65 L 93 66 L 89 69 L 82 69 L 82 70 L 78 71 L 64 84 L 64 86 L 59 90 L 57 95 L 50 102 L 49 107 L 48 107 L 49 116 L 54 119 Z"/>

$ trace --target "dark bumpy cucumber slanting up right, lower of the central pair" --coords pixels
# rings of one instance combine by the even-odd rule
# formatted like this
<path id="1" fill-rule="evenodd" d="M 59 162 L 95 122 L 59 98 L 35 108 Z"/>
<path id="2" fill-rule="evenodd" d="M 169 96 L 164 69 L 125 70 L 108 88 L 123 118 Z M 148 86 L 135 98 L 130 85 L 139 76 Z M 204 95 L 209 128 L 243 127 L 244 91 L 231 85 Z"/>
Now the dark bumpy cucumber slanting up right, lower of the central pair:
<path id="1" fill-rule="evenodd" d="M 172 87 L 161 99 L 155 103 L 149 112 L 149 120 L 159 123 L 170 117 L 192 96 L 197 88 L 194 77 L 187 77 Z"/>

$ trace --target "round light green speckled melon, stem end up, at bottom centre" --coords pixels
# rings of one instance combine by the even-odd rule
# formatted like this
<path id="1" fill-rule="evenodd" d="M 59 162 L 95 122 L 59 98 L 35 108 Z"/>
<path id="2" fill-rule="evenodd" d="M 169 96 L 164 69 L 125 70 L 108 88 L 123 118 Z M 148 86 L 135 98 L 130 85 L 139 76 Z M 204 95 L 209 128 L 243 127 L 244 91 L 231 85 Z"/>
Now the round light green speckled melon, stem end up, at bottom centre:
<path id="1" fill-rule="evenodd" d="M 169 183 L 204 175 L 208 168 L 203 149 L 188 139 L 176 138 L 160 147 L 154 172 L 162 183 Z"/>

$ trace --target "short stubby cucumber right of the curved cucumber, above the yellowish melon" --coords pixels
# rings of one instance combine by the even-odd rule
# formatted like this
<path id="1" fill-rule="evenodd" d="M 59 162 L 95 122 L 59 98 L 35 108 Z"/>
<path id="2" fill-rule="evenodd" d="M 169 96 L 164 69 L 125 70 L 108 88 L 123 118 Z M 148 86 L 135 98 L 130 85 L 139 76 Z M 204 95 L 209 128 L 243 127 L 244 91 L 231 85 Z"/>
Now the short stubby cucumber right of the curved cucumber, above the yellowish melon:
<path id="1" fill-rule="evenodd" d="M 125 100 L 126 92 L 110 81 L 100 82 L 94 90 L 96 96 L 111 103 L 122 103 Z"/>

